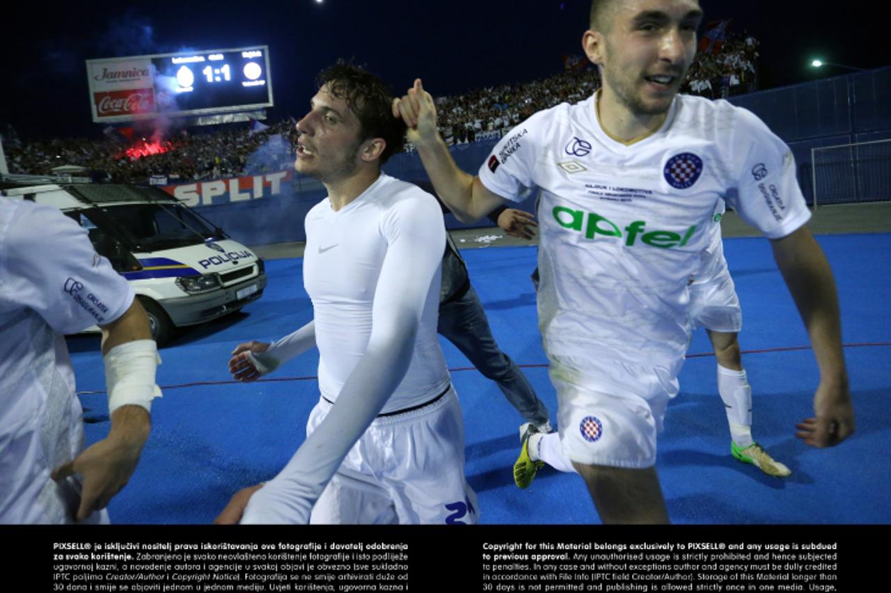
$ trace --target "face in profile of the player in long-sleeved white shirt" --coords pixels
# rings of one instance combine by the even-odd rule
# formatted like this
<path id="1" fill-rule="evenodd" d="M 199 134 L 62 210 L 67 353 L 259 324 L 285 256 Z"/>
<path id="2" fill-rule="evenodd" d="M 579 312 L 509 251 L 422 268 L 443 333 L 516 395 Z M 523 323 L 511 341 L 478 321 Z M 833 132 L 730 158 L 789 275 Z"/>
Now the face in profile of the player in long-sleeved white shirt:
<path id="1" fill-rule="evenodd" d="M 359 118 L 327 85 L 315 93 L 307 115 L 297 122 L 294 168 L 319 181 L 335 182 L 356 173 L 362 141 Z"/>

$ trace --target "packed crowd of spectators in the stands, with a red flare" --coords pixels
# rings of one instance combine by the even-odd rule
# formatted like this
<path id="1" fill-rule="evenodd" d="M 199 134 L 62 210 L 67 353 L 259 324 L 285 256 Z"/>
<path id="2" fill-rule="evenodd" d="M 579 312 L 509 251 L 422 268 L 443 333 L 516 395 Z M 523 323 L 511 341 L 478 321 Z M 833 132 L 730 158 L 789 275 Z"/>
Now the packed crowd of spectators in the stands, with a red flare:
<path id="1" fill-rule="evenodd" d="M 755 37 L 730 34 L 721 44 L 700 51 L 682 92 L 721 98 L 755 90 L 757 46 Z M 570 59 L 566 69 L 551 77 L 437 98 L 439 126 L 450 144 L 497 139 L 535 111 L 582 101 L 599 86 L 596 68 L 581 58 Z M 125 135 L 108 129 L 101 140 L 33 142 L 21 142 L 7 131 L 7 166 L 12 174 L 53 175 L 55 167 L 76 166 L 84 167 L 83 175 L 95 181 L 146 183 L 160 176 L 165 183 L 177 183 L 290 167 L 297 140 L 291 118 L 269 126 L 254 122 L 193 133 L 154 130 L 146 137 L 134 137 L 131 128 L 126 130 Z M 264 158 L 255 158 L 263 147 Z"/>

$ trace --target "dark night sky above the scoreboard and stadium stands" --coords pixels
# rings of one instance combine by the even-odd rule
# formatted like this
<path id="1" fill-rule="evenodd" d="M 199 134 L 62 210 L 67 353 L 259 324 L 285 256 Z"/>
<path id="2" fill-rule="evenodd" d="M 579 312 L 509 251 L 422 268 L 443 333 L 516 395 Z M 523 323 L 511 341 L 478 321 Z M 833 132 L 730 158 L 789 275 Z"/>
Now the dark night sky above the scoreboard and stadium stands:
<path id="1" fill-rule="evenodd" d="M 8 4 L 20 4 L 11 7 Z M 581 53 L 588 0 L 291 0 L 155 1 L 67 5 L 33 0 L 4 7 L 0 125 L 24 139 L 98 137 L 85 60 L 268 45 L 275 108 L 272 120 L 300 117 L 315 92 L 316 72 L 353 58 L 404 92 L 414 77 L 436 94 L 526 82 L 560 70 Z M 859 68 L 891 64 L 877 6 L 793 0 L 702 0 L 705 21 L 733 18 L 731 30 L 762 41 L 762 88 L 845 74 L 816 71 L 814 56 Z M 12 35 L 12 37 L 9 37 Z"/>

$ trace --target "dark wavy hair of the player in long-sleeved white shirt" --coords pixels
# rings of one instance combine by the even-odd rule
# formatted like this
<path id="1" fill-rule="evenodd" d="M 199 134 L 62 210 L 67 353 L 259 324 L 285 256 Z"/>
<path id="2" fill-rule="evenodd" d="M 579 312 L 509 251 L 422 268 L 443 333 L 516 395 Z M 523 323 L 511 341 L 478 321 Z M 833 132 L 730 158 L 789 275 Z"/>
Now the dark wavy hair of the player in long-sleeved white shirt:
<path id="1" fill-rule="evenodd" d="M 347 102 L 349 110 L 359 119 L 359 134 L 363 141 L 383 138 L 387 142 L 380 153 L 381 165 L 403 149 L 405 122 L 402 118 L 393 117 L 393 93 L 379 77 L 361 66 L 338 60 L 333 66 L 319 72 L 315 84 L 320 89 L 328 85 L 332 97 Z"/>

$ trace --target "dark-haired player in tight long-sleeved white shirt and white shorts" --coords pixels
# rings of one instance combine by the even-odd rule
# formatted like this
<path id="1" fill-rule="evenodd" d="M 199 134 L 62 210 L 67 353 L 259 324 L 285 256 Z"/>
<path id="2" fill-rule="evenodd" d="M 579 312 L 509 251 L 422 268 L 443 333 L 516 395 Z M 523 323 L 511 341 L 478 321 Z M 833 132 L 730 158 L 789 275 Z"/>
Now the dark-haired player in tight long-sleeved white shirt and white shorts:
<path id="1" fill-rule="evenodd" d="M 217 523 L 474 524 L 461 409 L 437 337 L 446 230 L 437 200 L 380 172 L 405 124 L 379 79 L 339 62 L 297 124 L 295 167 L 328 197 L 307 214 L 314 319 L 273 345 L 239 345 L 250 381 L 316 346 L 322 396 L 307 439 Z"/>

